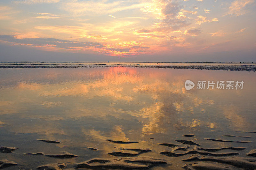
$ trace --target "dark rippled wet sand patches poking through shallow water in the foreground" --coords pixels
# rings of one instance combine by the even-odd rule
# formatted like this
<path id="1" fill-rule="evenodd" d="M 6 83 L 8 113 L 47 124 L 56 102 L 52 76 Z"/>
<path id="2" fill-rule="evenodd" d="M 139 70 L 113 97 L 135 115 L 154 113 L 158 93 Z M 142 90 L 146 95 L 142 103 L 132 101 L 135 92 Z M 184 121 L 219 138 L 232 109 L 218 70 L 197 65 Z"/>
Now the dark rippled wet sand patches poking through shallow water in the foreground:
<path id="1" fill-rule="evenodd" d="M 184 135 L 183 135 L 184 136 Z M 186 135 L 185 135 L 186 136 Z M 228 136 L 233 137 L 233 136 Z M 45 140 L 51 141 L 51 140 Z M 129 146 L 132 143 L 127 141 L 116 141 L 116 140 L 106 140 L 106 141 L 115 141 L 116 144 Z M 150 169 L 154 167 L 165 167 L 167 165 L 172 165 L 171 162 L 167 161 L 168 157 L 181 157 L 187 156 L 187 158 L 182 159 L 184 162 L 192 162 L 184 164 L 182 167 L 187 170 L 225 170 L 225 169 L 255 169 L 256 168 L 256 149 L 248 152 L 246 156 L 239 156 L 239 152 L 219 152 L 222 150 L 235 150 L 241 151 L 245 150 L 246 147 L 221 147 L 221 148 L 202 148 L 199 147 L 201 144 L 197 144 L 194 140 L 175 140 L 180 144 L 171 144 L 171 143 L 158 143 L 158 145 L 163 145 L 165 147 L 172 148 L 171 151 L 164 150 L 160 151 L 158 156 L 152 157 L 147 155 L 150 152 L 157 152 L 154 149 L 146 148 L 122 148 L 116 147 L 116 150 L 113 152 L 105 153 L 106 155 L 112 155 L 112 158 L 92 158 L 89 160 L 84 160 L 83 162 L 77 162 L 70 165 L 69 159 L 80 157 L 83 155 L 75 155 L 66 151 L 62 151 L 60 154 L 44 154 L 44 152 L 37 153 L 23 153 L 24 155 L 42 155 L 46 157 L 58 158 L 63 162 L 45 164 L 37 166 L 36 169 L 41 170 L 61 170 L 65 169 L 67 166 L 71 169 Z M 212 142 L 220 142 L 213 140 Z M 230 141 L 229 141 L 230 142 Z M 236 141 L 233 141 L 236 143 Z M 49 142 L 47 142 L 49 143 Z M 140 143 L 141 142 L 137 142 Z M 60 143 L 55 143 L 60 144 Z M 156 144 L 157 145 L 157 144 Z M 92 150 L 98 150 L 95 148 L 88 147 Z M 16 147 L 0 147 L 0 151 L 5 154 L 20 154 L 16 153 Z M 40 150 L 40 148 L 38 148 Z M 43 151 L 44 149 L 41 148 Z M 84 153 L 86 154 L 86 153 Z M 143 154 L 143 155 L 140 155 Z M 163 159 L 160 155 L 166 156 L 166 159 Z M 236 156 L 235 156 L 236 155 Z M 235 156 L 235 157 L 234 157 Z M 103 155 L 104 157 L 104 155 Z M 217 163 L 217 164 L 216 164 Z M 0 160 L 0 169 L 3 168 L 19 168 L 19 164 L 7 159 Z"/>

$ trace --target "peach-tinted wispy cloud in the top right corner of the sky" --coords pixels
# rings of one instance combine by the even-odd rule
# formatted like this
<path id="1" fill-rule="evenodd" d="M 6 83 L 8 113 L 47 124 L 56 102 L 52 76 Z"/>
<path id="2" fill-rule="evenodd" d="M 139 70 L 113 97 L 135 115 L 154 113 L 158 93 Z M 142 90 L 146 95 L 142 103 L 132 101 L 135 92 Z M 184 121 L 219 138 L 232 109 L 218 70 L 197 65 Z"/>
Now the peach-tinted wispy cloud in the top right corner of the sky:
<path id="1" fill-rule="evenodd" d="M 231 3 L 229 6 L 229 11 L 225 15 L 231 15 L 231 16 L 240 16 L 244 15 L 249 10 L 246 9 L 246 6 L 249 4 L 252 4 L 254 0 L 236 0 Z"/>

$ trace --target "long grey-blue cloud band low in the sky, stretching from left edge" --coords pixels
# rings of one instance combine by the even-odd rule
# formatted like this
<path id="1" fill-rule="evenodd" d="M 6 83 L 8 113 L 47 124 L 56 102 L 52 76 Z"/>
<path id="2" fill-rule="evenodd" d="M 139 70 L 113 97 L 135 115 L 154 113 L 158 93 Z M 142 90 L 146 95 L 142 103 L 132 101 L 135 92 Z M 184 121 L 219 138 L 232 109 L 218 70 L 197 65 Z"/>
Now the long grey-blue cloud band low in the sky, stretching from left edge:
<path id="1" fill-rule="evenodd" d="M 12 35 L 0 35 L 0 43 L 9 45 L 22 45 L 28 47 L 39 48 L 46 51 L 60 51 L 60 52 L 91 52 L 113 56 L 125 56 L 130 53 L 137 53 L 143 47 L 130 48 L 111 48 L 103 45 L 100 42 L 83 42 L 83 41 L 68 41 L 54 38 L 21 38 L 18 39 Z M 138 50 L 137 50 L 138 49 Z"/>

